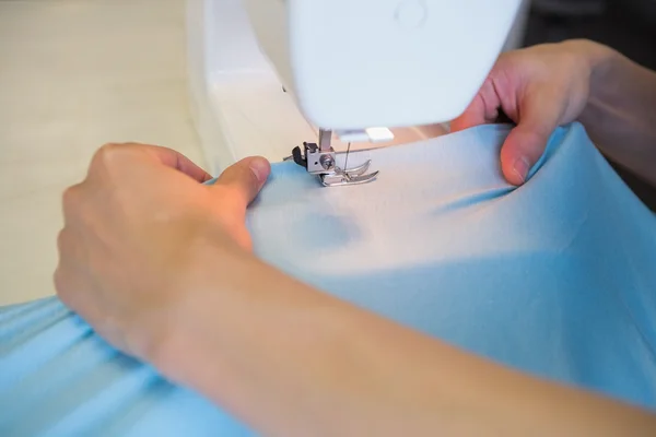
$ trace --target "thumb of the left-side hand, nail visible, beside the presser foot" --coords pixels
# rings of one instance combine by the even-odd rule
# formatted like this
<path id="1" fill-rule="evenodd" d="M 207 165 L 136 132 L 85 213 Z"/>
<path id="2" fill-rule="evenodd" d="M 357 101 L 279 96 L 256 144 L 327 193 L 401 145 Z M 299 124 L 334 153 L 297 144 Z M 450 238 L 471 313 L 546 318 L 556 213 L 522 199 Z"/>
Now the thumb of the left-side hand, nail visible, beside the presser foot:
<path id="1" fill-rule="evenodd" d="M 271 165 L 261 156 L 244 158 L 227 167 L 214 182 L 215 187 L 231 191 L 234 205 L 244 211 L 257 197 L 269 174 Z"/>

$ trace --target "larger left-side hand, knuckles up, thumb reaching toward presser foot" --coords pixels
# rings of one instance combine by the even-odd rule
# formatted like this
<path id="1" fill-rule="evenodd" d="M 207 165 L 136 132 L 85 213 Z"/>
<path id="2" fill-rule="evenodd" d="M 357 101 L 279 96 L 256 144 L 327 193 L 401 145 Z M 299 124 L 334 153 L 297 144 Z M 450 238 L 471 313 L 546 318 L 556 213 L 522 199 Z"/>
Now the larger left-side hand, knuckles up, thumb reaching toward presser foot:
<path id="1" fill-rule="evenodd" d="M 145 359 L 175 329 L 175 308 L 208 286 L 204 272 L 250 251 L 246 209 L 269 172 L 266 160 L 246 158 L 204 186 L 210 176 L 172 150 L 103 146 L 63 196 L 59 297 L 114 346 Z"/>

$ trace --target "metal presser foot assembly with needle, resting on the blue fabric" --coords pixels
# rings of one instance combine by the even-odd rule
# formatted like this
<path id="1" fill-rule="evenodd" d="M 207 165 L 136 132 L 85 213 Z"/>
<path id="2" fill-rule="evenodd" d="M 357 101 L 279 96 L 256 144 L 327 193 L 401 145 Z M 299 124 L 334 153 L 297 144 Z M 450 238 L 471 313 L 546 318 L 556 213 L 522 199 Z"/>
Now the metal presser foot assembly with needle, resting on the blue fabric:
<path id="1" fill-rule="evenodd" d="M 303 143 L 303 150 L 300 146 L 294 147 L 292 156 L 296 164 L 307 169 L 311 175 L 318 176 L 325 187 L 337 187 L 347 185 L 360 185 L 371 182 L 378 176 L 378 172 L 366 173 L 371 165 L 371 160 L 354 168 L 340 168 L 336 163 L 336 152 L 330 145 L 332 132 L 329 130 L 319 130 L 319 144 Z M 348 164 L 349 149 L 344 162 Z"/>

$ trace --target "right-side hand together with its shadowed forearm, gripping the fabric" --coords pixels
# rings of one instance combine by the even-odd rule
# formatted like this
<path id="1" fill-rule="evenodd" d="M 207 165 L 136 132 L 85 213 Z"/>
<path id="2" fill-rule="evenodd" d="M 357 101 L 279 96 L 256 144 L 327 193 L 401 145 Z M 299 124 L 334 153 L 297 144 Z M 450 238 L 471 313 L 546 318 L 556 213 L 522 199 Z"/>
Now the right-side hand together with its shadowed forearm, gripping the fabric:
<path id="1" fill-rule="evenodd" d="M 566 40 L 503 54 L 467 110 L 459 131 L 516 123 L 501 151 L 503 174 L 522 185 L 559 126 L 581 121 L 607 156 L 656 186 L 656 73 L 609 47 Z"/>

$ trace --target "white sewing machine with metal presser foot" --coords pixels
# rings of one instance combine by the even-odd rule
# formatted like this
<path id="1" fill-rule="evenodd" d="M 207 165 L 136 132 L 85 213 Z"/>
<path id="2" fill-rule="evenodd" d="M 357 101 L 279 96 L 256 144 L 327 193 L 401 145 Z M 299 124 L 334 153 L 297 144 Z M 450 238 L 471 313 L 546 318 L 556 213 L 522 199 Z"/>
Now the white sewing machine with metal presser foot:
<path id="1" fill-rule="evenodd" d="M 447 132 L 518 45 L 527 11 L 523 0 L 189 0 L 209 170 L 263 155 L 326 186 L 375 179 L 368 163 L 342 169 L 337 154 Z"/>

